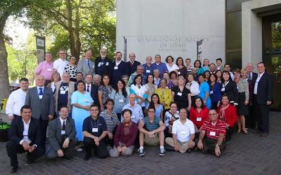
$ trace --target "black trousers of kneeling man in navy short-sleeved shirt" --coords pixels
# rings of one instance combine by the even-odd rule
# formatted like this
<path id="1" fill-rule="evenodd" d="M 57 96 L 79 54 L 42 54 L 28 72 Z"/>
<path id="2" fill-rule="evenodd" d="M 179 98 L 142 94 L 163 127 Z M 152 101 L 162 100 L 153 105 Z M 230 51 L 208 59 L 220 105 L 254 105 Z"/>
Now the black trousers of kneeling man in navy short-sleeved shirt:
<path id="1" fill-rule="evenodd" d="M 92 148 L 98 158 L 106 158 L 108 156 L 108 151 L 104 139 L 101 139 L 100 144 L 96 146 L 95 141 L 93 141 L 93 139 L 89 137 L 84 137 L 84 148 L 86 151 L 86 155 L 89 157 L 91 157 Z"/>

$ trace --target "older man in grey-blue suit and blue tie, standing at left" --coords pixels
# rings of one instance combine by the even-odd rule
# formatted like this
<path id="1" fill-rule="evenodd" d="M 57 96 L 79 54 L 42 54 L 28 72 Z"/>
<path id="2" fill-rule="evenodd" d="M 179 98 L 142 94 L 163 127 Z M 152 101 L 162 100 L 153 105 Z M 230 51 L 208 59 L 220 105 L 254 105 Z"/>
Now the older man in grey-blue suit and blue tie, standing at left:
<path id="1" fill-rule="evenodd" d="M 32 118 L 37 118 L 39 120 L 42 146 L 45 146 L 48 120 L 53 119 L 55 111 L 53 91 L 44 86 L 44 83 L 44 76 L 37 76 L 36 87 L 32 87 L 27 91 L 25 99 L 25 104 L 30 105 L 33 109 Z"/>

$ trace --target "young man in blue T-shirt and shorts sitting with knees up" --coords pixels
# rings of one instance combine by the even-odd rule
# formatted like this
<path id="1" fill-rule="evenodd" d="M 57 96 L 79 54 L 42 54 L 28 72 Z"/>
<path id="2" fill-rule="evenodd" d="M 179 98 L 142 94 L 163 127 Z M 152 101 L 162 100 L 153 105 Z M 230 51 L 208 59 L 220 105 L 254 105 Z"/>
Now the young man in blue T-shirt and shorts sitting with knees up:
<path id="1" fill-rule="evenodd" d="M 149 146 L 155 146 L 160 144 L 159 155 L 165 155 L 164 149 L 164 130 L 165 125 L 159 117 L 155 116 L 155 107 L 148 107 L 148 117 L 143 118 L 138 124 L 138 130 L 140 131 L 140 148 L 138 149 L 138 155 L 145 155 L 143 149 L 143 142 Z"/>

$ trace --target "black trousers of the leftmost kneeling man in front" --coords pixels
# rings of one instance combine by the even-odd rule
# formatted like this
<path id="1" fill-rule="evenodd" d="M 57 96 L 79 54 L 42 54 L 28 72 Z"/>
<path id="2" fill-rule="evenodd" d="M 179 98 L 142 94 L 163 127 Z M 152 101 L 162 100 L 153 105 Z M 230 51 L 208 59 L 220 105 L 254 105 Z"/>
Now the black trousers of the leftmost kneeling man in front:
<path id="1" fill-rule="evenodd" d="M 31 161 L 34 161 L 44 155 L 44 149 L 41 148 L 41 146 L 38 146 L 34 149 L 32 153 L 30 153 L 28 151 L 25 151 L 25 149 L 22 145 L 20 145 L 20 143 L 15 143 L 14 141 L 8 141 L 6 145 L 6 150 L 8 153 L 8 157 L 11 160 L 11 167 L 18 167 L 18 153 L 27 152 L 27 159 Z"/>

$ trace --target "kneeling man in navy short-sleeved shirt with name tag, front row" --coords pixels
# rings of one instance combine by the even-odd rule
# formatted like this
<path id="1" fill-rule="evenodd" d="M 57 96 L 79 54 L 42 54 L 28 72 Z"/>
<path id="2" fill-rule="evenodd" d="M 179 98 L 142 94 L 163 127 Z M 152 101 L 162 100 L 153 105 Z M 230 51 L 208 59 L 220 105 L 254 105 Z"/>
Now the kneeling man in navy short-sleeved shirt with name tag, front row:
<path id="1" fill-rule="evenodd" d="M 106 158 L 108 151 L 105 144 L 105 137 L 107 136 L 107 127 L 103 117 L 98 116 L 98 106 L 92 104 L 90 107 L 91 116 L 85 118 L 83 122 L 83 135 L 84 135 L 84 147 L 86 155 L 84 160 L 91 158 L 91 149 L 98 158 Z"/>

